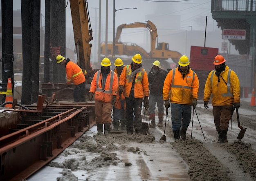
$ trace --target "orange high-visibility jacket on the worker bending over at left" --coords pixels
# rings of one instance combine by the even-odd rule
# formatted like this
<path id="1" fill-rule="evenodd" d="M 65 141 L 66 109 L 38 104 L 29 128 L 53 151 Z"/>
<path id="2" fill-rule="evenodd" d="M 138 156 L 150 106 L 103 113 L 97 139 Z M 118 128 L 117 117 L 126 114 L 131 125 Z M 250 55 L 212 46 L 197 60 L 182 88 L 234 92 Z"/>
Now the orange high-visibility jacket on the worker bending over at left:
<path id="1" fill-rule="evenodd" d="M 79 85 L 85 81 L 83 70 L 72 61 L 66 63 L 67 84 Z"/>

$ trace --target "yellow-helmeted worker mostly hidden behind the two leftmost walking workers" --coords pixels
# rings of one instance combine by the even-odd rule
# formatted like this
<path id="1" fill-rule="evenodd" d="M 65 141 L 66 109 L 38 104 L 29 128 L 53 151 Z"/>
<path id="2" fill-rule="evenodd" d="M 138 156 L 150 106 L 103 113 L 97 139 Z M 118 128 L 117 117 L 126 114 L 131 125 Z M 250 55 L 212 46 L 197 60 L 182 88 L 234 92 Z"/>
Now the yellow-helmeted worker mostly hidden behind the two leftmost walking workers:
<path id="1" fill-rule="evenodd" d="M 117 58 L 114 65 L 116 66 L 114 72 L 119 78 L 124 68 L 124 62 L 121 58 Z M 121 130 L 126 130 L 125 97 L 123 93 L 121 95 L 117 94 L 117 102 L 114 106 L 113 130 L 117 131 L 119 129 L 119 121 L 121 122 Z"/>

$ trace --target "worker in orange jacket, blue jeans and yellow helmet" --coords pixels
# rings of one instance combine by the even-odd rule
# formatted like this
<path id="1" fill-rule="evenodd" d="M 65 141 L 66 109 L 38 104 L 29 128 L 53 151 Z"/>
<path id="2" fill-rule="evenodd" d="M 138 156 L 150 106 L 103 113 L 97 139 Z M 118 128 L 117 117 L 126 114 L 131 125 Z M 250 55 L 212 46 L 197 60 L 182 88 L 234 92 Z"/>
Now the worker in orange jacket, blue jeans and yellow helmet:
<path id="1" fill-rule="evenodd" d="M 189 58 L 180 57 L 177 68 L 170 70 L 164 80 L 163 99 L 166 109 L 171 102 L 171 120 L 174 139 L 186 140 L 186 130 L 191 119 L 191 106 L 198 99 L 199 80 L 189 67 Z"/>

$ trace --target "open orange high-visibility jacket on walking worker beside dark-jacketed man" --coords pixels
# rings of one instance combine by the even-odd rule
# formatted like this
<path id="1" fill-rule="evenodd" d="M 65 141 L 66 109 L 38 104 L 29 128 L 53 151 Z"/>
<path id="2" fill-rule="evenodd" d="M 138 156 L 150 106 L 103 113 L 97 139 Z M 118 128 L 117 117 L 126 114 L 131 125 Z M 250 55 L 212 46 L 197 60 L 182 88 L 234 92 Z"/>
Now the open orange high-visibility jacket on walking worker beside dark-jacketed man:
<path id="1" fill-rule="evenodd" d="M 144 96 L 149 95 L 148 90 L 148 76 L 144 68 L 140 68 L 141 71 L 137 72 L 135 75 L 135 84 L 134 84 L 134 97 L 143 98 Z M 132 81 L 129 81 L 128 77 L 132 73 L 131 65 L 126 65 L 119 77 L 119 85 L 124 86 L 124 96 L 129 97 L 130 91 L 132 89 Z M 132 78 L 132 80 L 134 77 Z"/>

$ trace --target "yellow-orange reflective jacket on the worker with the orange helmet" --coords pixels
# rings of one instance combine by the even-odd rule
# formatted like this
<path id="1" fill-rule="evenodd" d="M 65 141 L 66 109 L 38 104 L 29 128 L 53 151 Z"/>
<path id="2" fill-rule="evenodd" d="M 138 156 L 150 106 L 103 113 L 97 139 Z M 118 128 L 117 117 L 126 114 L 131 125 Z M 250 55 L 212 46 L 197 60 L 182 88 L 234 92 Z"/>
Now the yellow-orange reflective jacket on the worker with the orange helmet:
<path id="1" fill-rule="evenodd" d="M 220 73 L 220 82 L 215 70 L 209 73 L 204 86 L 204 101 L 209 101 L 210 98 L 213 106 L 240 103 L 240 82 L 236 73 L 228 66 Z"/>

